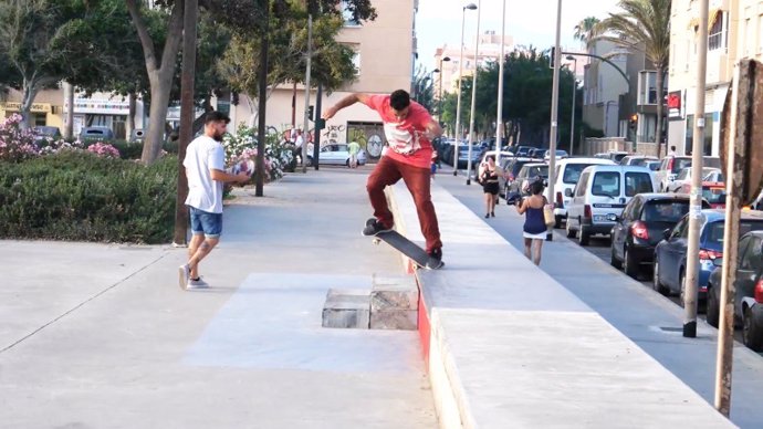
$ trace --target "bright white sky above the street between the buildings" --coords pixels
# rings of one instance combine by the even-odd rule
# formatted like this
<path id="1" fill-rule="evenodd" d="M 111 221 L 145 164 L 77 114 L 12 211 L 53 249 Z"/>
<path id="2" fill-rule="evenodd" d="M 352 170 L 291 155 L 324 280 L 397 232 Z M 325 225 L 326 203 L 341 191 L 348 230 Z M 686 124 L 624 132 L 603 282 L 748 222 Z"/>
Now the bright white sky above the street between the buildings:
<path id="1" fill-rule="evenodd" d="M 461 42 L 462 8 L 478 0 L 419 0 L 416 14 L 418 35 L 418 63 L 433 70 L 435 50 L 448 44 L 458 46 Z M 546 50 L 556 38 L 556 0 L 505 0 L 505 34 L 514 38 L 514 44 L 533 45 Z M 501 34 L 503 1 L 481 0 L 480 33 L 487 30 Z M 573 39 L 575 25 L 586 17 L 603 19 L 616 12 L 617 0 L 563 0 L 562 1 L 562 46 L 578 49 L 579 42 Z M 473 46 L 477 31 L 477 10 L 467 10 L 463 42 Z"/>

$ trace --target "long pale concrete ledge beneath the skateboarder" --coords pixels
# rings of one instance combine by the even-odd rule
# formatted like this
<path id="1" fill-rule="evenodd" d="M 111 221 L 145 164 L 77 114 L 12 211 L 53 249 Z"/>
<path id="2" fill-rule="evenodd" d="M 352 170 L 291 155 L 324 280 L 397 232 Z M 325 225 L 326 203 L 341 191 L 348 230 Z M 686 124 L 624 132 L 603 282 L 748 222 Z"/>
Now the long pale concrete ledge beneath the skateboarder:
<path id="1" fill-rule="evenodd" d="M 390 196 L 418 224 L 405 185 Z M 441 428 L 733 427 L 437 184 L 432 200 L 446 268 L 416 278 Z"/>

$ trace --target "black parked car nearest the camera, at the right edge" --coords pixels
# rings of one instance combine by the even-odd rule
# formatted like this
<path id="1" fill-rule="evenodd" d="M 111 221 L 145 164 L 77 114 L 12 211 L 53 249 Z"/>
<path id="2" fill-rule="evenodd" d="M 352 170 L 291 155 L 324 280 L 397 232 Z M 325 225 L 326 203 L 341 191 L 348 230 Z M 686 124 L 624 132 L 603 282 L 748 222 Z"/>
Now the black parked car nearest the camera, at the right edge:
<path id="1" fill-rule="evenodd" d="M 739 263 L 735 268 L 734 322 L 742 325 L 742 342 L 755 352 L 763 352 L 763 231 L 752 231 L 739 240 Z M 708 280 L 707 321 L 718 327 L 721 310 L 721 258 Z"/>

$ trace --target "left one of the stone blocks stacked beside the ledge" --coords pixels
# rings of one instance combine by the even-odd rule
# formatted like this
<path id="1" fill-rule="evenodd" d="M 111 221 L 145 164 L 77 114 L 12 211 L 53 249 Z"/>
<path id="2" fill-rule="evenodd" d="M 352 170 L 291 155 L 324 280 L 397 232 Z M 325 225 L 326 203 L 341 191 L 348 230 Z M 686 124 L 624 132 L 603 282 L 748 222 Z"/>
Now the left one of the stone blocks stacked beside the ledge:
<path id="1" fill-rule="evenodd" d="M 367 329 L 370 324 L 370 291 L 330 289 L 323 305 L 323 327 Z"/>

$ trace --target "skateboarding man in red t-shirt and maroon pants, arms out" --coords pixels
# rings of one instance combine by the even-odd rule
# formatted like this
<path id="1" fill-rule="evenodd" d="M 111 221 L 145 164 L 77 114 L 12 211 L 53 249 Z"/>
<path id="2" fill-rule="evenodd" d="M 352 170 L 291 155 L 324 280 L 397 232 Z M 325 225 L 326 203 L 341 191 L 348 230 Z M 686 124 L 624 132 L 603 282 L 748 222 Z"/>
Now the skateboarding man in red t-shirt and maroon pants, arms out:
<path id="1" fill-rule="evenodd" d="M 357 102 L 379 114 L 389 145 L 389 150 L 368 176 L 366 189 L 376 221 L 368 222 L 363 233 L 375 236 L 393 229 L 393 213 L 387 206 L 384 188 L 403 179 L 416 203 L 421 233 L 427 241 L 426 251 L 431 261 L 428 264 L 436 265 L 429 268 L 439 268 L 442 260 L 442 242 L 429 187 L 431 139 L 442 135 L 442 129 L 429 112 L 420 104 L 412 102 L 410 95 L 404 90 L 397 90 L 390 95 L 364 93 L 347 95 L 334 106 L 328 107 L 323 113 L 323 118 L 331 119 L 336 112 Z"/>

